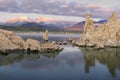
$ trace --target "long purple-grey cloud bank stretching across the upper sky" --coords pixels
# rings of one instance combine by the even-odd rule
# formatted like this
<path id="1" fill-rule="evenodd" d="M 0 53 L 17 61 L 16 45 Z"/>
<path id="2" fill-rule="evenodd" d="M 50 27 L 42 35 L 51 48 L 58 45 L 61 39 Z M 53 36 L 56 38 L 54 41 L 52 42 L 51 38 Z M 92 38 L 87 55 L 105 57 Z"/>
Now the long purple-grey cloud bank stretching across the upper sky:
<path id="1" fill-rule="evenodd" d="M 95 18 L 107 18 L 113 9 L 72 0 L 0 0 L 0 11 L 14 13 L 84 16 L 89 12 Z"/>

